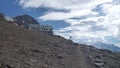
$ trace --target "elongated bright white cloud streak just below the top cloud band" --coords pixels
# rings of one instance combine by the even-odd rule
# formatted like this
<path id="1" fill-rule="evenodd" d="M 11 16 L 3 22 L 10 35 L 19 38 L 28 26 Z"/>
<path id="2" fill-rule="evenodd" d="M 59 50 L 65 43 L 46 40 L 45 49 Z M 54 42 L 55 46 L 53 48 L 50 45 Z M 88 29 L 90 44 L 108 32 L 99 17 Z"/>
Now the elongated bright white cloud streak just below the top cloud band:
<path id="1" fill-rule="evenodd" d="M 42 20 L 66 20 L 84 15 L 97 15 L 97 12 L 92 12 L 90 9 L 74 10 L 70 12 L 49 12 L 46 15 L 40 16 Z"/>

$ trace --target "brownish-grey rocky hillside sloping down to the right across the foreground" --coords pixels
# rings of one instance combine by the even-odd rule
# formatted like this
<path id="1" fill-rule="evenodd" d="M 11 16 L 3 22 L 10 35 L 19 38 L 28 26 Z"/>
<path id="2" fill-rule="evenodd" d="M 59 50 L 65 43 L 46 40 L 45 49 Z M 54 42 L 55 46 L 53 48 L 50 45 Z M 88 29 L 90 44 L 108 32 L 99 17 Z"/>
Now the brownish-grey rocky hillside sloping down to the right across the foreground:
<path id="1" fill-rule="evenodd" d="M 120 68 L 120 53 L 8 23 L 0 15 L 0 68 Z"/>

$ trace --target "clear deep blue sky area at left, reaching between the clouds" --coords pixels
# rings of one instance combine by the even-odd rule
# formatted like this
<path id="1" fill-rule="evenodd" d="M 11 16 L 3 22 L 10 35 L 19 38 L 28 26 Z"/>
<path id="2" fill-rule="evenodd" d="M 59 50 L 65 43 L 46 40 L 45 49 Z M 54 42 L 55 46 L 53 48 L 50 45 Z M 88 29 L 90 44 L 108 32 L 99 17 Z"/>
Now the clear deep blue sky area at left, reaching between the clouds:
<path id="1" fill-rule="evenodd" d="M 38 20 L 37 17 L 43 15 L 44 12 L 51 10 L 50 8 L 24 9 L 18 4 L 18 2 L 19 0 L 2 0 L 0 2 L 0 12 L 10 17 L 28 14 Z M 61 27 L 66 27 L 69 25 L 67 23 L 64 23 L 64 21 L 38 21 L 40 22 L 40 24 L 52 25 L 55 29 L 59 29 Z"/>

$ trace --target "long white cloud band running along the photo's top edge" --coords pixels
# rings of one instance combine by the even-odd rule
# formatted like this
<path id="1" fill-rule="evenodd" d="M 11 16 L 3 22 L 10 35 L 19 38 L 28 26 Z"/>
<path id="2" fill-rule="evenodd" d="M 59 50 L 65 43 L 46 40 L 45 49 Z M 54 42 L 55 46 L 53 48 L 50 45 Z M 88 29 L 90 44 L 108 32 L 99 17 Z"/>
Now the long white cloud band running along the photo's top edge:
<path id="1" fill-rule="evenodd" d="M 19 4 L 24 8 L 54 8 L 54 9 L 84 9 L 98 4 L 111 2 L 112 0 L 20 0 Z"/>

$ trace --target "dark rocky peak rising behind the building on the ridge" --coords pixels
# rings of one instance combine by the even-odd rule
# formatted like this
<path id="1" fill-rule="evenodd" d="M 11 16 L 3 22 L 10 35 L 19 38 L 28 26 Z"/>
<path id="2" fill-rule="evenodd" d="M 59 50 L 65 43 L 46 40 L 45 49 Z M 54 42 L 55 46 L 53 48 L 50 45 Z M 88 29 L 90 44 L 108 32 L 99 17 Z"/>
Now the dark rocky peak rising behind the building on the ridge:
<path id="1" fill-rule="evenodd" d="M 14 18 L 14 21 L 22 26 L 22 27 L 26 27 L 28 26 L 28 24 L 39 24 L 33 17 L 29 16 L 29 15 L 21 15 L 21 16 L 16 16 Z"/>

